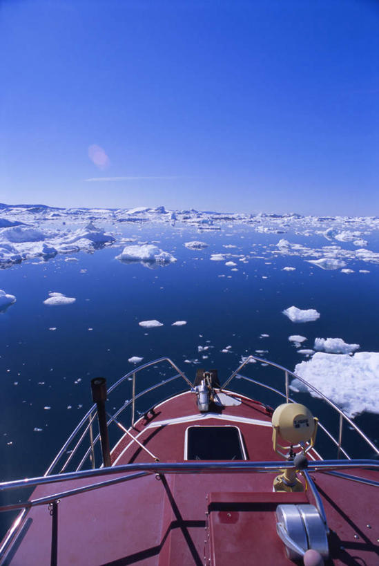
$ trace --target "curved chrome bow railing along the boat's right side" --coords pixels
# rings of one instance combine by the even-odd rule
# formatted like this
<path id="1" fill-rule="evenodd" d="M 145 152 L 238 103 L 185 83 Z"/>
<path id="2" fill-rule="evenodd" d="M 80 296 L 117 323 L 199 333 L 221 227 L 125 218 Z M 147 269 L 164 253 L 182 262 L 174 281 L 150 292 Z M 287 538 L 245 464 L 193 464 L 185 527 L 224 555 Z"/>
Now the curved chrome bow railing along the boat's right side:
<path id="1" fill-rule="evenodd" d="M 320 390 L 315 388 L 308 381 L 306 381 L 305 379 L 302 379 L 302 377 L 300 377 L 300 375 L 296 375 L 291 370 L 284 368 L 284 366 L 280 366 L 280 364 L 275 364 L 275 362 L 273 362 L 273 361 L 269 361 L 267 359 L 260 358 L 260 357 L 257 357 L 257 356 L 253 356 L 253 355 L 246 357 L 246 359 L 242 362 L 242 364 L 240 364 L 240 366 L 235 371 L 233 371 L 233 373 L 228 377 L 228 379 L 226 379 L 224 384 L 222 384 L 221 389 L 224 389 L 231 382 L 233 377 L 238 375 L 240 370 L 242 370 L 242 368 L 244 366 L 246 366 L 246 364 L 249 364 L 251 359 L 253 359 L 255 361 L 260 361 L 263 364 L 267 364 L 268 366 L 273 366 L 274 368 L 278 368 L 279 370 L 282 370 L 284 372 L 284 379 L 285 379 L 285 384 L 286 384 L 286 397 L 288 397 L 288 375 L 291 375 L 294 379 L 298 379 L 299 381 L 301 381 L 305 386 L 307 386 L 307 388 L 313 390 L 314 393 L 317 395 L 317 397 L 321 397 L 321 399 L 323 399 L 325 402 L 327 402 L 327 404 L 329 406 L 331 406 L 334 409 L 334 411 L 336 411 L 340 415 L 340 428 L 339 428 L 339 431 L 338 431 L 339 451 L 340 451 L 340 441 L 342 440 L 342 424 L 343 424 L 343 420 L 345 420 L 346 422 L 349 423 L 350 426 L 352 426 L 354 428 L 354 430 L 360 435 L 360 437 L 362 437 L 362 439 L 365 440 L 365 442 L 367 442 L 367 444 L 369 444 L 371 449 L 373 449 L 373 451 L 377 455 L 379 455 L 379 450 L 376 448 L 375 444 L 373 444 L 373 442 L 371 442 L 371 440 L 365 435 L 365 433 L 360 430 L 359 426 L 357 426 L 347 415 L 345 415 L 344 412 L 335 403 L 333 403 L 333 401 L 328 399 L 328 397 L 325 397 L 325 395 L 323 393 L 321 393 Z"/>

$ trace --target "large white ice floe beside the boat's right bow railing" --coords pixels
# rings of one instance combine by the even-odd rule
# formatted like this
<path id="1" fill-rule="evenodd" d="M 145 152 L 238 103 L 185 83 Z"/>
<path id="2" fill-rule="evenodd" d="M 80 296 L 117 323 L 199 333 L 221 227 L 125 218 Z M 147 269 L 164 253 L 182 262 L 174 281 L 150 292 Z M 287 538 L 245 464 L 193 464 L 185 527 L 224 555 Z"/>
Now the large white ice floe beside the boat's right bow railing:
<path id="1" fill-rule="evenodd" d="M 298 364 L 295 373 L 351 417 L 363 411 L 379 413 L 379 352 L 356 352 L 353 356 L 316 352 L 309 361 Z M 299 379 L 292 381 L 291 388 L 308 390 Z M 313 390 L 309 393 L 318 397 Z"/>

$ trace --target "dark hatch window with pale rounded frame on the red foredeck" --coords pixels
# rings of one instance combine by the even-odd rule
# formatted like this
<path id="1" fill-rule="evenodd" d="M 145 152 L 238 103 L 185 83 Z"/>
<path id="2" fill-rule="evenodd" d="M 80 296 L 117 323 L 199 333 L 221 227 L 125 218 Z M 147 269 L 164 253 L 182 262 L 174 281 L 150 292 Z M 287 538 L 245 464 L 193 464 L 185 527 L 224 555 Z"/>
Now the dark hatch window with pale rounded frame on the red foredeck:
<path id="1" fill-rule="evenodd" d="M 237 426 L 189 426 L 186 460 L 244 460 Z"/>

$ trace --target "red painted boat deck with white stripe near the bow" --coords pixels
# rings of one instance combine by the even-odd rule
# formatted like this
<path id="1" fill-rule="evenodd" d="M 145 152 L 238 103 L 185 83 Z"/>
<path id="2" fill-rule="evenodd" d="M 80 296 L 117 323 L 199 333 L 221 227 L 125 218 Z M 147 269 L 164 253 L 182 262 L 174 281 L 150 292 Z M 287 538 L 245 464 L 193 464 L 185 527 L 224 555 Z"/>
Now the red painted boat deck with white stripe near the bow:
<path id="1" fill-rule="evenodd" d="M 131 432 L 161 462 L 180 462 L 184 459 L 184 432 L 188 426 L 234 424 L 242 432 L 249 459 L 279 460 L 272 449 L 270 415 L 263 406 L 237 397 L 242 399 L 240 406 L 204 416 L 197 411 L 195 395 L 179 395 L 157 406 L 155 415 L 148 420 L 139 419 Z M 175 422 L 178 418 L 182 420 Z M 168 424 L 173 419 L 174 424 Z M 112 458 L 116 466 L 153 461 L 126 435 Z M 354 474 L 374 477 L 368 471 L 356 470 Z M 58 505 L 58 565 L 186 566 L 202 565 L 204 560 L 217 566 L 234 562 L 291 564 L 275 531 L 276 504 L 313 503 L 313 499 L 309 491 L 273 493 L 274 476 L 151 475 L 62 499 Z M 331 529 L 329 564 L 378 565 L 378 489 L 322 473 L 315 473 L 314 480 Z M 97 481 L 41 486 L 32 497 Z M 51 522 L 47 506 L 32 509 L 4 564 L 49 565 Z"/>

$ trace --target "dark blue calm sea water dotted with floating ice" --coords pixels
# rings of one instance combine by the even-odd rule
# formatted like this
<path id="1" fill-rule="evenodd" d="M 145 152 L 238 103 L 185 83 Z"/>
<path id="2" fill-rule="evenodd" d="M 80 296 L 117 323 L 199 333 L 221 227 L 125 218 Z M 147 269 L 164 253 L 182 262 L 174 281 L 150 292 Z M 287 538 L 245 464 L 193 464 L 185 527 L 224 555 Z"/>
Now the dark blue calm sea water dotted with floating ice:
<path id="1" fill-rule="evenodd" d="M 191 380 L 198 367 L 217 368 L 224 381 L 241 357 L 255 350 L 266 350 L 261 357 L 294 370 L 306 358 L 288 341 L 290 334 L 307 337 L 303 348 L 312 348 L 315 337 L 342 337 L 360 344 L 362 351 L 379 349 L 378 264 L 351 261 L 352 274 L 321 270 L 303 257 L 275 254 L 282 236 L 258 234 L 244 225 L 226 223 L 220 230 L 201 233 L 191 227 L 123 225 L 122 231 L 125 237 L 157 243 L 177 261 L 155 269 L 141 263 L 127 265 L 115 259 L 123 248 L 115 245 L 94 254 L 71 254 L 77 261 L 65 261 L 66 256 L 60 255 L 0 271 L 0 288 L 17 297 L 0 313 L 1 480 L 42 474 L 88 410 L 90 379 L 104 376 L 112 384 L 133 369 L 130 357 L 143 357 L 144 362 L 170 357 Z M 309 247 L 327 244 L 322 236 L 284 237 Z M 370 237 L 369 248 L 378 250 L 378 240 Z M 191 240 L 208 247 L 184 247 Z M 353 248 L 351 243 L 342 245 Z M 211 261 L 211 254 L 217 253 L 236 257 Z M 240 261 L 242 255 L 246 260 Z M 226 261 L 237 265 L 226 266 Z M 286 266 L 295 270 L 283 271 Z M 76 301 L 49 307 L 43 304 L 48 292 L 62 292 Z M 292 323 L 282 314 L 291 305 L 315 308 L 320 319 Z M 138 324 L 151 319 L 164 326 L 146 329 Z M 186 325 L 172 326 L 179 320 Z M 208 349 L 199 352 L 198 346 Z M 226 346 L 231 346 L 229 353 L 222 353 Z M 137 390 L 166 375 L 147 372 Z M 283 390 L 282 374 L 261 364 L 247 365 L 244 375 Z M 184 386 L 177 384 L 180 389 Z M 249 389 L 242 380 L 234 380 L 231 388 L 272 406 L 280 402 L 274 395 Z M 111 406 L 121 405 L 130 395 L 124 389 Z M 295 398 L 308 404 L 336 434 L 338 418 L 323 402 L 307 393 Z M 142 399 L 137 409 L 143 411 L 153 400 Z M 378 415 L 363 413 L 355 422 L 378 444 Z M 372 457 L 354 438 L 345 427 L 344 442 L 353 455 Z M 336 456 L 329 444 L 318 448 L 325 457 Z"/>

